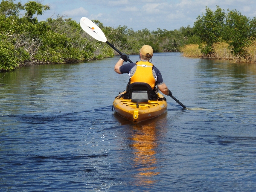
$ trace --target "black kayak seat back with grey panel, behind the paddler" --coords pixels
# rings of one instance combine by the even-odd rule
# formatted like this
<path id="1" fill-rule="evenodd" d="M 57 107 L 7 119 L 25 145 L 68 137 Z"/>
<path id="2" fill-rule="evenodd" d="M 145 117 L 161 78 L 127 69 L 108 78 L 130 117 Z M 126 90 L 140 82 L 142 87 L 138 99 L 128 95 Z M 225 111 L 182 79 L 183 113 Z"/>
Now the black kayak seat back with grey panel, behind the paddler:
<path id="1" fill-rule="evenodd" d="M 157 100 L 157 94 L 147 83 L 134 82 L 129 84 L 124 94 L 124 99 L 131 99 L 131 102 L 148 102 Z"/>

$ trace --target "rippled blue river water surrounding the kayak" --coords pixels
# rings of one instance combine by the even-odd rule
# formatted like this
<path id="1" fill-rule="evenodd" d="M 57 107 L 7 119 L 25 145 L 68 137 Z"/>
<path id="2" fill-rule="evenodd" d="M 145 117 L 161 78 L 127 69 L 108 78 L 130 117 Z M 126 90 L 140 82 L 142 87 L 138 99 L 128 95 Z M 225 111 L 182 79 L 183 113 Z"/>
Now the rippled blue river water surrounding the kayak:
<path id="1" fill-rule="evenodd" d="M 0 73 L 0 191 L 256 189 L 255 64 L 156 53 L 188 109 L 167 97 L 133 125 L 112 114 L 128 82 L 117 60 Z"/>

